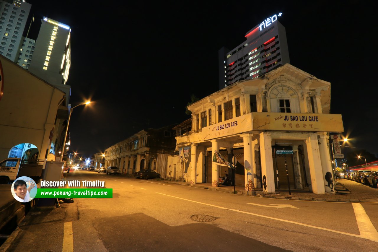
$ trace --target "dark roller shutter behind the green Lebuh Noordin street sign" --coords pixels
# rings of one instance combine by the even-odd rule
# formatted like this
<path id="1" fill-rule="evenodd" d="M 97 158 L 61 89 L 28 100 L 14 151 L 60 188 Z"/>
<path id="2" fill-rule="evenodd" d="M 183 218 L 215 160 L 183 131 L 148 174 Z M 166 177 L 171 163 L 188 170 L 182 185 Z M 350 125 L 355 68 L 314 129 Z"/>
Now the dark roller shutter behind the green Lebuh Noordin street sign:
<path id="1" fill-rule="evenodd" d="M 272 146 L 273 147 L 273 146 Z M 274 155 L 275 150 L 282 150 L 282 147 L 272 148 L 273 152 L 273 167 L 274 167 L 274 186 L 277 188 L 277 172 L 276 172 L 276 159 L 277 157 L 277 170 L 279 177 L 280 188 L 288 188 L 287 176 L 286 176 L 286 167 L 285 167 L 285 158 L 287 162 L 287 170 L 289 174 L 290 188 L 295 189 L 295 177 L 294 177 L 294 164 L 293 164 L 293 155 L 280 154 Z M 287 148 L 285 148 L 287 149 Z"/>

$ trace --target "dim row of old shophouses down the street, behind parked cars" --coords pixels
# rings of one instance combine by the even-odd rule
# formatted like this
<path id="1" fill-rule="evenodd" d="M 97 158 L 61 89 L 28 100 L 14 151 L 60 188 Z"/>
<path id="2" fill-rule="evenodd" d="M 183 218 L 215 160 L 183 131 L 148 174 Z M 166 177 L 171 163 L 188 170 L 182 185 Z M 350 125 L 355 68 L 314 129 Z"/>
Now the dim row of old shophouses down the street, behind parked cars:
<path id="1" fill-rule="evenodd" d="M 116 166 L 123 174 L 152 169 L 165 177 L 168 153 L 176 140 L 172 125 L 144 129 L 105 150 L 105 167 Z"/>

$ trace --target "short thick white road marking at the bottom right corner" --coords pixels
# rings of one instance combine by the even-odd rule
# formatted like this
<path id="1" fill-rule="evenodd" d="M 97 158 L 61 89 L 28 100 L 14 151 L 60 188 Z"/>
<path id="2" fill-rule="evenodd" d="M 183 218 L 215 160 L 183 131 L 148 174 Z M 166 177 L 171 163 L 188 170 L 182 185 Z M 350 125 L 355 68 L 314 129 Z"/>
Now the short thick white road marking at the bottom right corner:
<path id="1" fill-rule="evenodd" d="M 370 221 L 369 216 L 367 216 L 363 206 L 359 203 L 352 203 L 352 206 L 355 211 L 359 234 L 369 237 L 369 240 L 378 241 L 378 232 Z"/>

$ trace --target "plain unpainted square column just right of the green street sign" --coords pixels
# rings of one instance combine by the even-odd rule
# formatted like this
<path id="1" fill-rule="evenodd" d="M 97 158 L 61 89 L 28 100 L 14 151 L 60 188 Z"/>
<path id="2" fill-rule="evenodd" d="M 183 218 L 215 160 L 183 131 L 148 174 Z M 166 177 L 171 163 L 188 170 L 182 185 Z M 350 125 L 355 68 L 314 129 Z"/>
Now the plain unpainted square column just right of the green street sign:
<path id="1" fill-rule="evenodd" d="M 305 140 L 308 156 L 308 168 L 310 170 L 312 192 L 316 194 L 324 194 L 324 179 L 322 171 L 322 163 L 318 147 L 318 137 L 314 133 Z"/>

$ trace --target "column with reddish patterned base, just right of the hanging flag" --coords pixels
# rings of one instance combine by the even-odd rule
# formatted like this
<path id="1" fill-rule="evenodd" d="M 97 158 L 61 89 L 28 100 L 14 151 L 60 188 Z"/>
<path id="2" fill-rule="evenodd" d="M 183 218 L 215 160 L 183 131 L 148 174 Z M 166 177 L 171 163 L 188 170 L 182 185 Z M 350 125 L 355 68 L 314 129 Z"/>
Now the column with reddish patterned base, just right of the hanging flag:
<path id="1" fill-rule="evenodd" d="M 252 144 L 252 136 L 253 134 L 241 134 L 243 137 L 243 147 L 244 147 L 244 182 L 245 182 L 245 190 L 246 191 L 254 191 L 255 184 L 254 184 L 254 176 L 256 172 L 254 172 L 253 166 L 256 164 L 253 159 L 253 152 L 254 152 L 254 145 Z M 253 165 L 255 164 L 255 165 Z"/>

